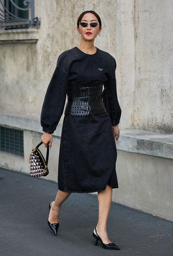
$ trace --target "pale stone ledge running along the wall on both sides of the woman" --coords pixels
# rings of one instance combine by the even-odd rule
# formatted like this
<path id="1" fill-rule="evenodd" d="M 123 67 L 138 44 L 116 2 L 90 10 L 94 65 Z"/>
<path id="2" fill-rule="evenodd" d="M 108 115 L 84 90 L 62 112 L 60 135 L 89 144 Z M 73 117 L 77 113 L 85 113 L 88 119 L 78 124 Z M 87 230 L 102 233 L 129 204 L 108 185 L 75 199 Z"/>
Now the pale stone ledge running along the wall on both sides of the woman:
<path id="1" fill-rule="evenodd" d="M 39 118 L 22 114 L 0 113 L 0 125 L 43 133 Z M 63 120 L 60 120 L 54 136 L 61 137 L 62 125 Z M 120 130 L 115 143 L 118 150 L 173 159 L 173 135 L 170 134 L 137 129 Z"/>

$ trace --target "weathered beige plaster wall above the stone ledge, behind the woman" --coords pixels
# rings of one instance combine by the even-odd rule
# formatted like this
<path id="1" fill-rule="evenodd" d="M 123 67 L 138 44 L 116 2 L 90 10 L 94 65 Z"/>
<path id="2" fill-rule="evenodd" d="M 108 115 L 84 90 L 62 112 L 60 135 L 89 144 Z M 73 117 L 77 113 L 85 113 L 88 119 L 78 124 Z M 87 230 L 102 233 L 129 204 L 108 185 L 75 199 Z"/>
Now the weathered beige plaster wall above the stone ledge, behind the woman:
<path id="1" fill-rule="evenodd" d="M 121 128 L 172 133 L 171 0 L 35 2 L 38 42 L 1 44 L 1 111 L 39 117 L 58 55 L 79 43 L 78 15 L 95 9 L 103 23 L 95 45 L 117 60 Z"/>

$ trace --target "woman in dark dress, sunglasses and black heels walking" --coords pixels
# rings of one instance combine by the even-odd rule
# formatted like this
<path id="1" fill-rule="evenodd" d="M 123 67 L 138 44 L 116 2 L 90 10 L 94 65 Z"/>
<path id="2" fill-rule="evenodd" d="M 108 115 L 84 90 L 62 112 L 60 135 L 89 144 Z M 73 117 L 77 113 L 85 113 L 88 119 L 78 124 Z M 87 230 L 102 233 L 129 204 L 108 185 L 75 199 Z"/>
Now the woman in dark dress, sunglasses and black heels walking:
<path id="1" fill-rule="evenodd" d="M 112 188 L 116 176 L 121 108 L 116 91 L 116 60 L 94 46 L 101 19 L 95 11 L 78 17 L 79 46 L 61 53 L 45 94 L 41 113 L 42 142 L 52 145 L 52 133 L 63 114 L 58 159 L 58 192 L 49 204 L 48 225 L 57 234 L 62 203 L 74 193 L 98 191 L 98 222 L 92 235 L 107 249 L 120 249 L 107 234 Z M 104 85 L 104 90 L 103 89 Z"/>

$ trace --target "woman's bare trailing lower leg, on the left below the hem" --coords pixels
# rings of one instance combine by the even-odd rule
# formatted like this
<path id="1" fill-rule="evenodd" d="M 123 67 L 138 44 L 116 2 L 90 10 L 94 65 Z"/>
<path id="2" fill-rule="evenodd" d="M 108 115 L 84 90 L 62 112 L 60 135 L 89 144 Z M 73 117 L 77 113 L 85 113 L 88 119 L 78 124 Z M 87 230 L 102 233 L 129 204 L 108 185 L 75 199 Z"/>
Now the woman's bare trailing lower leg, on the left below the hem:
<path id="1" fill-rule="evenodd" d="M 55 201 L 53 201 L 51 204 L 51 209 L 50 209 L 49 218 L 48 218 L 50 223 L 59 222 L 61 204 L 69 197 L 70 194 L 71 192 L 64 192 L 64 191 L 58 190 Z"/>

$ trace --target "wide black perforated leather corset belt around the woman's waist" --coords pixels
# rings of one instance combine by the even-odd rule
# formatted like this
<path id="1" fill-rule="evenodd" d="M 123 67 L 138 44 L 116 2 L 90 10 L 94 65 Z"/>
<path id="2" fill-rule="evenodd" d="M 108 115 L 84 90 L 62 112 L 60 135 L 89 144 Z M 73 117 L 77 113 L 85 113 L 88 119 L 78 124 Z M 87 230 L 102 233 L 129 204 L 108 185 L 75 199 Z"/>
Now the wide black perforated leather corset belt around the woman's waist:
<path id="1" fill-rule="evenodd" d="M 102 114 L 107 112 L 102 100 L 102 82 L 93 84 L 69 84 L 67 103 L 64 114 L 73 116 L 85 116 L 90 113 Z"/>

